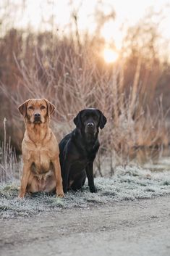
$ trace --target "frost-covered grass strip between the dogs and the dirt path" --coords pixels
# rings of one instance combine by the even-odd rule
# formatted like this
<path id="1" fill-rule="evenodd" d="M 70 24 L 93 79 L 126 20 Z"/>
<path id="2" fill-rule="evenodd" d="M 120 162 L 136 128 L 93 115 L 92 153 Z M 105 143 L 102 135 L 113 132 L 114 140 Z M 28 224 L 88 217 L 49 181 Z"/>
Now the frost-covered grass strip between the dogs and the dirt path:
<path id="1" fill-rule="evenodd" d="M 69 191 L 64 199 L 55 195 L 38 193 L 18 199 L 18 181 L 0 186 L 1 218 L 27 217 L 51 210 L 90 207 L 115 201 L 151 198 L 170 193 L 170 171 L 153 173 L 135 166 L 118 167 L 112 178 L 95 178 L 96 194 L 91 194 L 88 184 L 83 191 Z"/>

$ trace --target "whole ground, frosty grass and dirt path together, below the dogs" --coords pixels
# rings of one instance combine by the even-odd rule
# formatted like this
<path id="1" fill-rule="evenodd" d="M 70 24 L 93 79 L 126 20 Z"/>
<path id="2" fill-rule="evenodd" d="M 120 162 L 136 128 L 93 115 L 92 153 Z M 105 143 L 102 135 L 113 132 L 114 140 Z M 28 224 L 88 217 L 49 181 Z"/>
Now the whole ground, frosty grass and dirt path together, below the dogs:
<path id="1" fill-rule="evenodd" d="M 95 178 L 96 194 L 27 194 L 0 186 L 0 254 L 170 255 L 170 171 L 119 167 Z"/>

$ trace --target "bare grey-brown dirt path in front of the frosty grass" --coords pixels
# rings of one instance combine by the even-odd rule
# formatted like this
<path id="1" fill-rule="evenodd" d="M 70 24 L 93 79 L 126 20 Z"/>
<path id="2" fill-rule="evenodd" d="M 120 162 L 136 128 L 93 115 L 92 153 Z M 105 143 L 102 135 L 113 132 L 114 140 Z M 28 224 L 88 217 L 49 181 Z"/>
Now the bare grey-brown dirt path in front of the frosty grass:
<path id="1" fill-rule="evenodd" d="M 170 255 L 170 196 L 0 220 L 1 256 Z"/>

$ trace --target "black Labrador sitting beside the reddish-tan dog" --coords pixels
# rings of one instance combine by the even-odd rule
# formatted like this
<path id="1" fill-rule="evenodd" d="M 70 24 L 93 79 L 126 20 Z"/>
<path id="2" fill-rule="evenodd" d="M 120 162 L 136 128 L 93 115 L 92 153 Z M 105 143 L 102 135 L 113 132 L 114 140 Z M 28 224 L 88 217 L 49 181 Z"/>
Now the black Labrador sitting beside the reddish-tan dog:
<path id="1" fill-rule="evenodd" d="M 59 143 L 64 193 L 67 193 L 68 189 L 81 189 L 86 175 L 90 192 L 95 193 L 93 161 L 100 146 L 98 128 L 103 129 L 106 121 L 100 110 L 82 110 L 74 119 L 75 130 Z"/>

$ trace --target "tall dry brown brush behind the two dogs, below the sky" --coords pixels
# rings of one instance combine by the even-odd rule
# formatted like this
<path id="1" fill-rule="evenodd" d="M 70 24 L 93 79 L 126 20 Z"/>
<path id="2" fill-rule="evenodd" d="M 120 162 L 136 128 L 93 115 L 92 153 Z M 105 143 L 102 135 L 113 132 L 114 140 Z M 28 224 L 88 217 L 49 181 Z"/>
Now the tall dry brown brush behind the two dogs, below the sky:
<path id="1" fill-rule="evenodd" d="M 1 99 L 6 104 L 1 118 L 7 117 L 7 131 L 19 151 L 24 125 L 17 106 L 35 97 L 55 104 L 52 125 L 58 140 L 74 128 L 72 120 L 80 110 L 96 107 L 103 111 L 108 123 L 100 134 L 96 160 L 101 176 L 103 162 L 109 162 L 113 174 L 114 166 L 126 165 L 138 149 L 169 144 L 163 101 L 156 99 L 161 74 L 157 57 L 152 59 L 155 70 L 140 54 L 108 65 L 101 57 L 104 42 L 99 38 L 86 37 L 81 47 L 80 41 L 77 45 L 73 38 L 51 37 L 51 33 L 23 38 L 22 31 L 11 31 L 4 41 L 9 38 L 16 46 L 12 50 L 8 46 L 4 55 L 9 77 L 2 72 Z M 0 44 L 0 51 L 6 47 Z"/>

